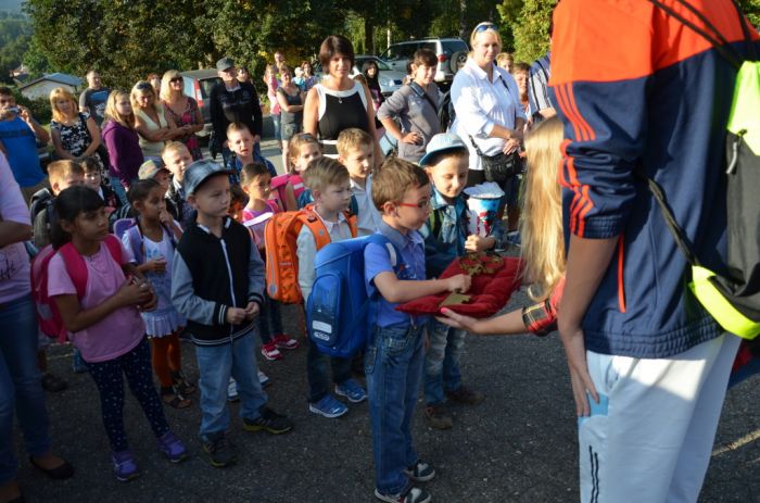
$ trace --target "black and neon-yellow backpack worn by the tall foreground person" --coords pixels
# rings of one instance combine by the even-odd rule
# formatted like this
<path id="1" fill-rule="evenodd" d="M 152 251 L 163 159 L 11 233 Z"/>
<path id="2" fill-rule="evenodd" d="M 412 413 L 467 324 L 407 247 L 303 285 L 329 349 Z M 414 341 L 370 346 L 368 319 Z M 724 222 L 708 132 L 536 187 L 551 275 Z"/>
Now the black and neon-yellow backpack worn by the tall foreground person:
<path id="1" fill-rule="evenodd" d="M 675 221 L 661 187 L 647 179 L 668 228 L 692 266 L 689 288 L 702 306 L 727 331 L 745 339 L 760 334 L 760 62 L 751 29 L 732 0 L 744 32 L 744 46 L 751 59 L 736 48 L 696 8 L 677 3 L 694 14 L 705 28 L 684 18 L 661 0 L 649 0 L 673 18 L 707 39 L 737 71 L 733 102 L 726 124 L 726 230 L 727 274 L 719 276 L 704 267 Z"/>

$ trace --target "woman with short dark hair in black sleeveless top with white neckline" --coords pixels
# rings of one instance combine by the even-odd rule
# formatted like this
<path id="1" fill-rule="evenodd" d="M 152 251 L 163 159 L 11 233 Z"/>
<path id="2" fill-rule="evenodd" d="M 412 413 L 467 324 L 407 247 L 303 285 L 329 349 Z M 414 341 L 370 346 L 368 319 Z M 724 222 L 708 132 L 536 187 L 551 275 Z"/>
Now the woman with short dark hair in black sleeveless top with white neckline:
<path id="1" fill-rule="evenodd" d="M 349 76 L 354 66 L 354 47 L 347 38 L 327 37 L 319 48 L 319 61 L 327 76 L 306 96 L 304 133 L 319 138 L 325 155 L 337 158 L 335 142 L 343 129 L 358 127 L 377 138 L 375 109 L 369 89 Z M 375 165 L 381 162 L 382 153 L 376 139 Z"/>

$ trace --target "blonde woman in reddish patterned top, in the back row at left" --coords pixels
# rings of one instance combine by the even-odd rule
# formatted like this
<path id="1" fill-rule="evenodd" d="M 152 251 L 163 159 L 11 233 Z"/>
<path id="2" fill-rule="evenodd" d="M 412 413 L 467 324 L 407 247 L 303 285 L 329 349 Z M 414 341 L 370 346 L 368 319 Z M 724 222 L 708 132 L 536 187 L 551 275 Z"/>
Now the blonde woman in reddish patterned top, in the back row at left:
<path id="1" fill-rule="evenodd" d="M 174 121 L 178 128 L 187 127 L 187 134 L 177 140 L 185 143 L 192 159 L 203 159 L 201 144 L 195 133 L 203 129 L 203 114 L 195 100 L 185 95 L 185 79 L 176 70 L 169 70 L 161 79 L 161 103 L 166 116 Z"/>

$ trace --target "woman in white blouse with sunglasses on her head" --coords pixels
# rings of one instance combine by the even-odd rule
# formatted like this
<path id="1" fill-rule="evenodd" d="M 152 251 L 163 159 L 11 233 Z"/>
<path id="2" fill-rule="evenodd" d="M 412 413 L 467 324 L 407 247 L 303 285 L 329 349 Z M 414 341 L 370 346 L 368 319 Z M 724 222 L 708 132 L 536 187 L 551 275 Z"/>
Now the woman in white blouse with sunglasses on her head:
<path id="1" fill-rule="evenodd" d="M 470 152 L 467 185 L 485 181 L 483 166 L 473 144 L 484 155 L 511 153 L 522 142 L 525 114 L 520 106 L 517 83 L 495 64 L 502 37 L 493 23 L 480 23 L 470 35 L 472 51 L 452 84 L 456 118 L 452 130 Z"/>

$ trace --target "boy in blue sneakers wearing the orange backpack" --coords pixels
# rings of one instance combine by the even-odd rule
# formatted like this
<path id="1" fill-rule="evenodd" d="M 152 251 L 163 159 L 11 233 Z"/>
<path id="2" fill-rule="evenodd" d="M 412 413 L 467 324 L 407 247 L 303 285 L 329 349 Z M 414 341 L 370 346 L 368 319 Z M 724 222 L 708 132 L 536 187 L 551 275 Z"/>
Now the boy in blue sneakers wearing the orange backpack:
<path id="1" fill-rule="evenodd" d="M 349 172 L 334 159 L 320 158 L 313 161 L 304 173 L 304 181 L 312 189 L 314 197 L 314 213 L 325 225 L 330 241 L 351 239 L 352 223 L 346 219 L 345 211 L 351 202 Z M 304 299 L 308 298 L 314 285 L 314 257 L 317 254 L 316 240 L 308 226 L 301 228 L 296 241 L 299 256 L 299 286 Z M 349 407 L 337 400 L 329 391 L 327 375 L 328 360 L 332 367 L 332 380 L 335 393 L 345 397 L 352 403 L 364 402 L 367 392 L 351 378 L 351 360 L 328 359 L 317 350 L 316 344 L 308 340 L 308 356 L 306 369 L 308 375 L 308 410 L 325 417 L 339 417 L 349 412 Z"/>

